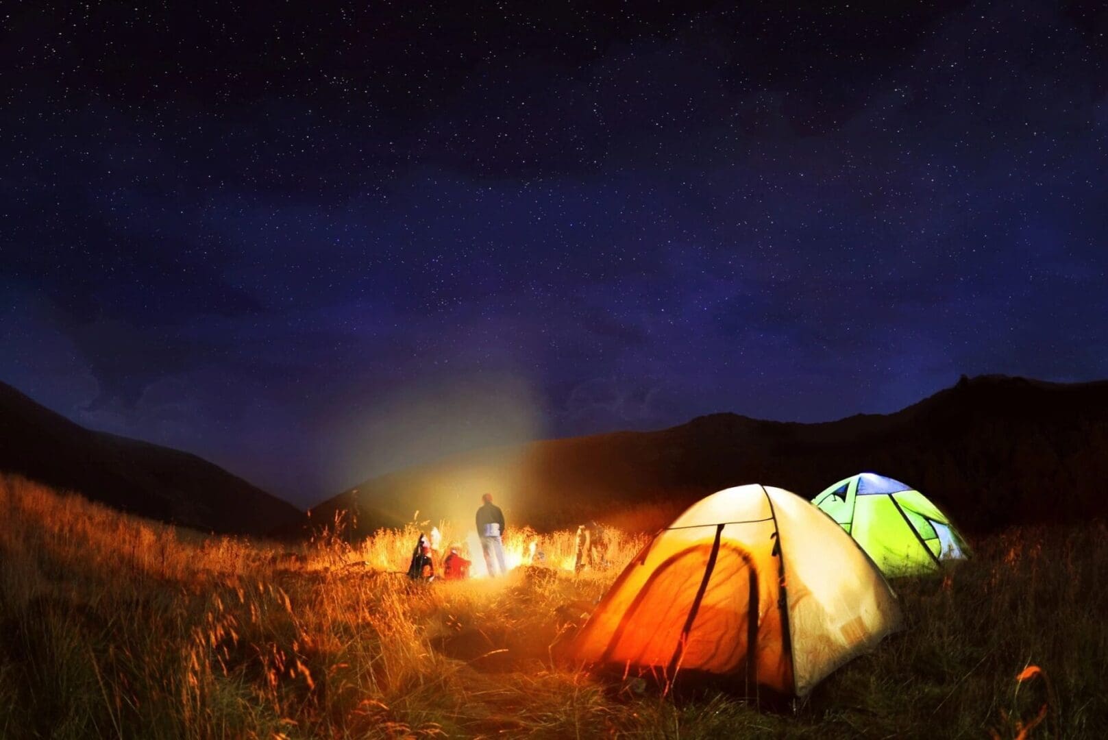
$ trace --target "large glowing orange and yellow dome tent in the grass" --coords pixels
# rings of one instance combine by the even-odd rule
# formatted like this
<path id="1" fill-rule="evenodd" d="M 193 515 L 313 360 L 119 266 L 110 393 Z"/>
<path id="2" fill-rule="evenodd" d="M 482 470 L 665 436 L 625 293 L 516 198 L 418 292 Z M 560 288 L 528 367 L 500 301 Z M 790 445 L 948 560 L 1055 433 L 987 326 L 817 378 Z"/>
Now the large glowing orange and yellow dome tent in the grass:
<path id="1" fill-rule="evenodd" d="M 896 597 L 841 526 L 788 491 L 740 485 L 663 530 L 573 651 L 586 664 L 733 676 L 803 696 L 900 626 Z"/>

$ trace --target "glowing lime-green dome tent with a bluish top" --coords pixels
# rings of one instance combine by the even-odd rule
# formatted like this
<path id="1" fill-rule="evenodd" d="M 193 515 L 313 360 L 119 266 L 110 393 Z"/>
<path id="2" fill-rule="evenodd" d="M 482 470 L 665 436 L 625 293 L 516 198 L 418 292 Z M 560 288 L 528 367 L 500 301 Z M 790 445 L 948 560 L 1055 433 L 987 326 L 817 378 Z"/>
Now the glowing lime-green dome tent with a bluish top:
<path id="1" fill-rule="evenodd" d="M 812 499 L 886 576 L 937 573 L 970 548 L 946 514 L 910 485 L 876 473 L 839 481 Z"/>

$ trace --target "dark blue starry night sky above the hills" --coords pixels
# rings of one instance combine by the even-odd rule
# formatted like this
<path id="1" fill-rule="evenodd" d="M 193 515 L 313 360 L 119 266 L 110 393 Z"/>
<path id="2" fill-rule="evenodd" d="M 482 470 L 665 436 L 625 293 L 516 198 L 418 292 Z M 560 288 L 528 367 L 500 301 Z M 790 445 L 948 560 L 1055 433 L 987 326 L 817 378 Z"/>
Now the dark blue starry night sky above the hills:
<path id="1" fill-rule="evenodd" d="M 147 4 L 0 14 L 0 380 L 79 423 L 307 505 L 1108 377 L 1102 3 Z"/>

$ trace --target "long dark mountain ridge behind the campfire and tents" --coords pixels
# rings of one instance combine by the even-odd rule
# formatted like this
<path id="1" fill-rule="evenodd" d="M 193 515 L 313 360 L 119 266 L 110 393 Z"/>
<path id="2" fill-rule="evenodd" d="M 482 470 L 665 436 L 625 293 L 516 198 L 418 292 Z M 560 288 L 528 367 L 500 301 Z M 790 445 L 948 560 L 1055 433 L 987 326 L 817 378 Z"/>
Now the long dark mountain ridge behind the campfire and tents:
<path id="1" fill-rule="evenodd" d="M 483 491 L 510 524 L 587 518 L 652 528 L 710 492 L 779 485 L 806 497 L 860 471 L 924 491 L 964 528 L 1108 513 L 1108 381 L 986 376 L 899 412 L 802 424 L 731 413 L 657 432 L 485 450 L 367 481 L 310 512 L 357 514 L 359 531 L 421 518 L 469 521 Z M 628 514 L 639 511 L 636 522 Z"/>

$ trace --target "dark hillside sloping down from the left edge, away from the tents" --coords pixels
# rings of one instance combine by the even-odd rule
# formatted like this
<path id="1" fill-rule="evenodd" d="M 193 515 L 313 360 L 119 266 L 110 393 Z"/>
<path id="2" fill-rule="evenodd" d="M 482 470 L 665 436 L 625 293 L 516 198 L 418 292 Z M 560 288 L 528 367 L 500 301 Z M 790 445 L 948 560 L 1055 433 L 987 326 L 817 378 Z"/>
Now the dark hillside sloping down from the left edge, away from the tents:
<path id="1" fill-rule="evenodd" d="M 302 513 L 196 455 L 94 432 L 0 383 L 0 472 L 163 522 L 263 534 Z"/>

